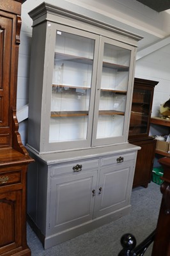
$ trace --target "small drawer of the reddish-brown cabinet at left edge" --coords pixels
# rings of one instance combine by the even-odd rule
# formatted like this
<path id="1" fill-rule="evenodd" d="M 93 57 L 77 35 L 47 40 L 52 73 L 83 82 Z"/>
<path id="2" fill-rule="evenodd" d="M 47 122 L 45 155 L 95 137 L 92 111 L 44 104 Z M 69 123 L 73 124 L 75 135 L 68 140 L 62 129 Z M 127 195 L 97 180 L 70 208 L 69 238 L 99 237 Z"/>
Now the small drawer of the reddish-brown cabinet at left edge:
<path id="1" fill-rule="evenodd" d="M 0 187 L 21 183 L 21 170 L 0 173 Z"/>

